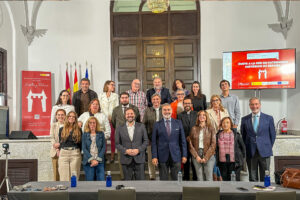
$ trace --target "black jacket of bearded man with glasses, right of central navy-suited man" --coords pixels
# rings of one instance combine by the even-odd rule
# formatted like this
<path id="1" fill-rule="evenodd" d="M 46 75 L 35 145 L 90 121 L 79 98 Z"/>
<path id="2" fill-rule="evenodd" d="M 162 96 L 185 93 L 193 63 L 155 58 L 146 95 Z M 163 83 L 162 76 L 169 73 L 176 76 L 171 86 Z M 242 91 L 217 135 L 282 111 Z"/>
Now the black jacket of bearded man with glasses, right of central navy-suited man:
<path id="1" fill-rule="evenodd" d="M 182 122 L 182 126 L 184 129 L 185 137 L 187 138 L 190 135 L 191 129 L 196 124 L 197 120 L 197 112 L 191 110 L 190 112 L 190 118 L 188 117 L 188 114 L 186 111 L 183 111 L 177 116 L 177 119 L 179 119 Z"/>

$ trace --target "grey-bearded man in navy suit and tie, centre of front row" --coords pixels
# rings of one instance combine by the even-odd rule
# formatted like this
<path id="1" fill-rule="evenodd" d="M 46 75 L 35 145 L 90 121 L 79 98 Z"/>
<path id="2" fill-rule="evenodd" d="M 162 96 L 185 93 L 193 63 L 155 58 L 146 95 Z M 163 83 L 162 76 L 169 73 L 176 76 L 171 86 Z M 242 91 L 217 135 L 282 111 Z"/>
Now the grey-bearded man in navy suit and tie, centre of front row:
<path id="1" fill-rule="evenodd" d="M 187 146 L 180 120 L 171 118 L 170 104 L 162 105 L 163 118 L 154 124 L 152 132 L 152 163 L 158 166 L 160 180 L 177 180 L 181 163 L 186 162 Z"/>

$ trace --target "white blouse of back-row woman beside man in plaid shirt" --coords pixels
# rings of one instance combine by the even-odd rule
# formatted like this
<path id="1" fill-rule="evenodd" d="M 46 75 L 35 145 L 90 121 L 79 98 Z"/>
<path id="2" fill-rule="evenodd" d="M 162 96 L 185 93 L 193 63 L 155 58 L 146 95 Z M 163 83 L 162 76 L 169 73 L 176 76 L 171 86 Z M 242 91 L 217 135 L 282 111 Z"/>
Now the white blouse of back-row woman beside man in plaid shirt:
<path id="1" fill-rule="evenodd" d="M 106 96 L 106 92 L 99 95 L 101 113 L 106 117 L 111 117 L 115 107 L 119 105 L 119 96 L 116 93 L 111 93 L 109 97 Z"/>

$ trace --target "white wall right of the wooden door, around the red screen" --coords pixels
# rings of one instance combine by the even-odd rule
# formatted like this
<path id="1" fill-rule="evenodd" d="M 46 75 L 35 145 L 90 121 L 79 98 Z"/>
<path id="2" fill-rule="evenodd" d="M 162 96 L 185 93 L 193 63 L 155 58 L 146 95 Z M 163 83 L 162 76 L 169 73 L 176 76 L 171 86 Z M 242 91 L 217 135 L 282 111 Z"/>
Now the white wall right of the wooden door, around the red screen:
<path id="1" fill-rule="evenodd" d="M 285 48 L 283 37 L 268 28 L 277 21 L 272 1 L 201 1 L 201 83 L 204 94 L 220 94 L 222 52 Z M 254 91 L 232 91 L 240 98 L 242 116 L 250 113 Z M 263 90 L 262 111 L 275 122 L 286 113 L 285 92 Z"/>

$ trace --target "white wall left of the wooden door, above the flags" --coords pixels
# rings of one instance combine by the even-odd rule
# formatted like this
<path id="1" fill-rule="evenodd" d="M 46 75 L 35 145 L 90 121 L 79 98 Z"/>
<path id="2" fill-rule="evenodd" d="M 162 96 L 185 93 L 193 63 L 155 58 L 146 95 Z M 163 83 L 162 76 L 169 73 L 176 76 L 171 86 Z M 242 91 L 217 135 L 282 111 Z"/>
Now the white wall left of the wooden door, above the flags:
<path id="1" fill-rule="evenodd" d="M 111 78 L 109 6 L 108 0 L 44 1 L 41 5 L 37 28 L 46 28 L 48 32 L 29 46 L 28 68 L 55 75 L 55 100 L 59 91 L 65 89 L 66 62 L 73 64 L 73 80 L 74 63 L 77 71 L 78 63 L 81 64 L 84 77 L 87 61 L 91 87 L 97 93 Z"/>

